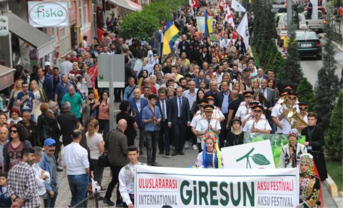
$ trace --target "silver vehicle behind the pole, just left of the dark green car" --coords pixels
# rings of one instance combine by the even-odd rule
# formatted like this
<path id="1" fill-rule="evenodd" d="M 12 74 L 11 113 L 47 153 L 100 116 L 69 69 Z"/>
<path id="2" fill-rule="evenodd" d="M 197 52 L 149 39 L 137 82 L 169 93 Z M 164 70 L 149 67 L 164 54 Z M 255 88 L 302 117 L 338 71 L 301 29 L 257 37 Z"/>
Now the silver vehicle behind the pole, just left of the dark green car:
<path id="1" fill-rule="evenodd" d="M 307 25 L 305 22 L 305 15 L 304 13 L 300 13 L 299 15 L 299 30 L 307 30 Z M 283 47 L 283 41 L 287 37 L 287 13 L 282 13 L 279 17 L 279 23 L 277 24 L 277 44 L 280 47 Z"/>

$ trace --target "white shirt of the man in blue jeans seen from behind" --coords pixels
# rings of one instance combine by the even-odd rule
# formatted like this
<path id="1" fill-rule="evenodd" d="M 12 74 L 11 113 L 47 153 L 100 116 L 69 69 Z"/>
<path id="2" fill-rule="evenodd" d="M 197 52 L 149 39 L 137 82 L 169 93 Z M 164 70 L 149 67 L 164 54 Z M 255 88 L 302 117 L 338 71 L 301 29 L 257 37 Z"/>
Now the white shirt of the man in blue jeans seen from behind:
<path id="1" fill-rule="evenodd" d="M 67 166 L 67 175 L 86 174 L 88 152 L 79 143 L 72 142 L 63 148 L 61 164 Z"/>

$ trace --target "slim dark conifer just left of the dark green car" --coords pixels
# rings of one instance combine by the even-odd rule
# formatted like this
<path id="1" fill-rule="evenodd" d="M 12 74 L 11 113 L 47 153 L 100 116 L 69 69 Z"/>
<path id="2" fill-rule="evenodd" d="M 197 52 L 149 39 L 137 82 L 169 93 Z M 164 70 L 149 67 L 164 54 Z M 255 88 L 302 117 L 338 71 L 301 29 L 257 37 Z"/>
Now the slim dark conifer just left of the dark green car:
<path id="1" fill-rule="evenodd" d="M 285 60 L 285 68 L 280 71 L 279 78 L 284 84 L 292 84 L 296 89 L 301 79 L 303 79 L 303 70 L 300 66 L 300 58 L 298 56 L 298 43 L 295 38 L 295 26 L 291 24 L 292 33 L 289 37 L 287 58 Z"/>

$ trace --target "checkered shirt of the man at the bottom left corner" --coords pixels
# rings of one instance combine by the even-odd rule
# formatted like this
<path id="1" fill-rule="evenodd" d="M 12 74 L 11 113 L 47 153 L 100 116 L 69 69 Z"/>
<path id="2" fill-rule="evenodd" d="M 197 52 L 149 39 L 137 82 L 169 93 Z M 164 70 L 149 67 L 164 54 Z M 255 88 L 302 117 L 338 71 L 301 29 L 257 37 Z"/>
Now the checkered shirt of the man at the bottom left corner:
<path id="1" fill-rule="evenodd" d="M 23 208 L 39 206 L 36 173 L 31 165 L 21 161 L 13 166 L 8 173 L 7 182 L 9 195 L 15 194 L 25 201 Z"/>

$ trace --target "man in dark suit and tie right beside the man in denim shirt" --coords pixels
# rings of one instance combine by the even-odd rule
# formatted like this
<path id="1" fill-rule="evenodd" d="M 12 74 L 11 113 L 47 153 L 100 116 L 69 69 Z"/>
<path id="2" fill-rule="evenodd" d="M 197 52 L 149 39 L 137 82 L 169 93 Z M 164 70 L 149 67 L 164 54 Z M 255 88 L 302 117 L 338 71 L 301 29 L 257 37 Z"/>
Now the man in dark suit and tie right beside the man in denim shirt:
<path id="1" fill-rule="evenodd" d="M 166 91 L 164 89 L 158 90 L 158 99 L 156 105 L 162 115 L 162 121 L 160 122 L 158 149 L 159 154 L 170 155 L 170 129 L 168 127 L 168 113 L 170 111 L 170 101 L 165 99 Z"/>

